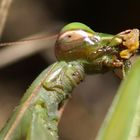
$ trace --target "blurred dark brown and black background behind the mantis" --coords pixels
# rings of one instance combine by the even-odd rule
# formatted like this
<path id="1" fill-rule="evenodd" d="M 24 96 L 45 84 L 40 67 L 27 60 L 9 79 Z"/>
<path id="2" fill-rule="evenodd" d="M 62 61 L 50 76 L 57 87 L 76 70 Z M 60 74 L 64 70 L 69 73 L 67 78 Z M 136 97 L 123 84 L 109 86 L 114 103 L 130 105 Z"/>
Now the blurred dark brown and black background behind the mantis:
<path id="1" fill-rule="evenodd" d="M 98 32 L 118 33 L 140 29 L 139 0 L 13 0 L 1 42 L 40 33 L 58 32 L 64 24 L 80 21 Z M 50 34 L 49 34 L 50 35 Z M 45 41 L 44 41 L 45 42 Z M 48 43 L 48 40 L 46 41 Z M 42 43 L 35 47 L 41 47 Z M 0 48 L 0 52 L 6 48 Z M 28 49 L 26 44 L 25 49 Z M 20 49 L 19 54 L 22 54 Z M 10 58 L 14 50 L 6 53 Z M 4 62 L 0 60 L 0 65 Z M 17 58 L 0 67 L 0 129 L 35 77 L 55 60 L 53 47 Z M 61 140 L 94 140 L 118 89 L 111 72 L 87 76 L 74 90 L 60 122 Z"/>

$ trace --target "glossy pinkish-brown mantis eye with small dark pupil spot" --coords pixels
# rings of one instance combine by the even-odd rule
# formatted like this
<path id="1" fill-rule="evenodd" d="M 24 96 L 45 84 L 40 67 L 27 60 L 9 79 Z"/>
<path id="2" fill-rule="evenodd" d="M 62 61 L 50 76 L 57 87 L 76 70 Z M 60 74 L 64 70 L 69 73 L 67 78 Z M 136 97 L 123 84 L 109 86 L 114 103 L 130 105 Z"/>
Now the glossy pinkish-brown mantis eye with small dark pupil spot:
<path id="1" fill-rule="evenodd" d="M 67 31 L 59 35 L 56 46 L 55 46 L 55 53 L 56 57 L 59 59 L 60 57 L 67 58 L 73 57 L 72 55 L 75 52 L 82 51 L 82 48 L 85 48 L 87 45 L 94 45 L 97 41 L 92 40 L 93 34 L 87 33 L 83 30 L 72 30 Z M 76 56 L 79 56 L 76 54 Z"/>

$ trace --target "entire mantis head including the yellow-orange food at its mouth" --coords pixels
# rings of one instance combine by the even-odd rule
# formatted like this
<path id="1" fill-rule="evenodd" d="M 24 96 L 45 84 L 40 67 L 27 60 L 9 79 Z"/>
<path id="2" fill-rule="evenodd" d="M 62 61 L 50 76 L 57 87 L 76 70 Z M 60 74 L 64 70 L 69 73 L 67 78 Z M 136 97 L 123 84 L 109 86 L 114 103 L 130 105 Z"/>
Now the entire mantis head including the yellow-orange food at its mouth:
<path id="1" fill-rule="evenodd" d="M 130 57 L 138 48 L 138 29 L 109 35 L 94 32 L 82 23 L 73 22 L 61 30 L 56 41 L 55 54 L 58 60 L 80 60 L 87 73 L 94 73 L 127 69 L 130 67 Z"/>

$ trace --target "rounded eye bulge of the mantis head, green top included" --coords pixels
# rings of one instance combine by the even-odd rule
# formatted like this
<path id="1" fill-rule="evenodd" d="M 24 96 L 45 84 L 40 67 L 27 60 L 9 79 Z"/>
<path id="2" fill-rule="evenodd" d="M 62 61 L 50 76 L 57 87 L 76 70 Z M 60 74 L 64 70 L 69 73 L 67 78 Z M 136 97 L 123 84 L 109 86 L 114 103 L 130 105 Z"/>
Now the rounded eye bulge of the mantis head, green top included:
<path id="1" fill-rule="evenodd" d="M 100 41 L 88 26 L 73 22 L 61 30 L 55 46 L 55 54 L 58 60 L 86 60 L 91 46 Z"/>

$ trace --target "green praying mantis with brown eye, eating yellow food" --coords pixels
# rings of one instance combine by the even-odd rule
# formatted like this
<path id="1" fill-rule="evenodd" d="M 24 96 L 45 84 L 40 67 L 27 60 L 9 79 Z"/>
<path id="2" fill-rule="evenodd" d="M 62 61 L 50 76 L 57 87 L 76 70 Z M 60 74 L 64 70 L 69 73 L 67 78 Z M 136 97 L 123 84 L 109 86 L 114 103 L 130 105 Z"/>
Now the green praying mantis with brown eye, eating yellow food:
<path id="1" fill-rule="evenodd" d="M 57 140 L 58 110 L 85 74 L 129 72 L 139 49 L 139 30 L 98 33 L 74 22 L 62 28 L 55 44 L 57 62 L 31 84 L 0 132 L 0 140 Z"/>

